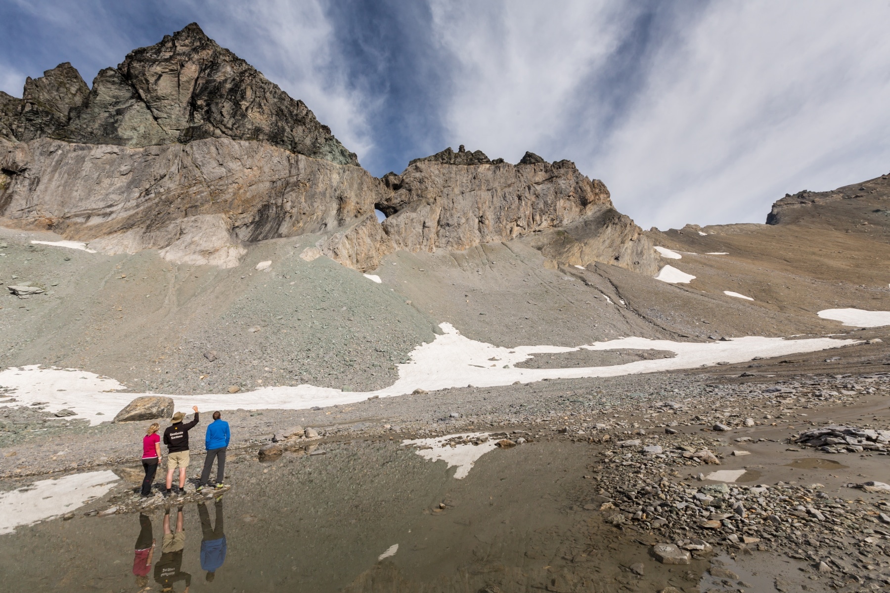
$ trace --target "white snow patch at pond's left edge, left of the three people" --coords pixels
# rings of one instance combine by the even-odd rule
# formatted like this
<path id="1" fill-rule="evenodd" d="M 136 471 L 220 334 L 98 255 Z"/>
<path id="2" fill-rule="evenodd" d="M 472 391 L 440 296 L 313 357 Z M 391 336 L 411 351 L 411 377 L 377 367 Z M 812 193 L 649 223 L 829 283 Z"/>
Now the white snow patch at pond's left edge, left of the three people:
<path id="1" fill-rule="evenodd" d="M 0 493 L 0 533 L 77 509 L 87 499 L 107 493 L 118 479 L 113 471 L 90 471 Z"/>

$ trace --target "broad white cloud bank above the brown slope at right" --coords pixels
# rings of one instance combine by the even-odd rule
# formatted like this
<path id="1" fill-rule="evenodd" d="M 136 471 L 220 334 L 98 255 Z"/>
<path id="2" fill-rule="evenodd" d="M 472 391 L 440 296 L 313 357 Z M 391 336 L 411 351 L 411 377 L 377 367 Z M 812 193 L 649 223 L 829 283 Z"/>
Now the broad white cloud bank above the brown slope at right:
<path id="1" fill-rule="evenodd" d="M 888 21 L 886 2 L 711 4 L 584 163 L 660 228 L 763 222 L 786 192 L 886 172 Z"/>

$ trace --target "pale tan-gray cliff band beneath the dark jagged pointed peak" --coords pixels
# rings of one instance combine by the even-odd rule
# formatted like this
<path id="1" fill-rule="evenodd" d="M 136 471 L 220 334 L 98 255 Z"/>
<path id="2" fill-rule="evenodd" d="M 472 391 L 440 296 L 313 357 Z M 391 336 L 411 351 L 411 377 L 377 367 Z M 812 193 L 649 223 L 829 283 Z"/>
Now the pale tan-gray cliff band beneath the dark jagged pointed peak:
<path id="1" fill-rule="evenodd" d="M 222 267 L 238 265 L 243 243 L 351 227 L 386 193 L 360 167 L 227 138 L 147 148 L 32 140 L 7 148 L 0 168 L 4 226 Z"/>

